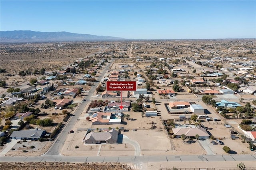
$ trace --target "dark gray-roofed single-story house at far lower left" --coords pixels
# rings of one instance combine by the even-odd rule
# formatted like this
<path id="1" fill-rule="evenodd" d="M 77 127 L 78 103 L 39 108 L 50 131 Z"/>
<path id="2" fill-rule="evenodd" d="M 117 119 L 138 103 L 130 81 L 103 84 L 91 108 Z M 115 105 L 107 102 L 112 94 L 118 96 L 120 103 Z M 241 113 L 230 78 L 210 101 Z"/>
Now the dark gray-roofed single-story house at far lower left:
<path id="1" fill-rule="evenodd" d="M 19 130 L 13 131 L 10 135 L 11 139 L 28 139 L 28 140 L 36 140 L 38 138 L 42 138 L 46 135 L 46 130 L 30 129 L 30 130 Z"/>

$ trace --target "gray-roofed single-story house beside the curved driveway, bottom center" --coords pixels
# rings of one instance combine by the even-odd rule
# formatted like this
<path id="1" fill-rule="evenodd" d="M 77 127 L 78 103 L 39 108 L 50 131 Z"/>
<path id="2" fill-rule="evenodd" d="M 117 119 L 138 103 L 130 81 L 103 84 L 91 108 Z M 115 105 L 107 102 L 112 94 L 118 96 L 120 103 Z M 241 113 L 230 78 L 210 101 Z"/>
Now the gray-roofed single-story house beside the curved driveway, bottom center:
<path id="1" fill-rule="evenodd" d="M 84 138 L 84 144 L 117 143 L 118 131 L 111 129 L 107 132 L 90 132 Z"/>

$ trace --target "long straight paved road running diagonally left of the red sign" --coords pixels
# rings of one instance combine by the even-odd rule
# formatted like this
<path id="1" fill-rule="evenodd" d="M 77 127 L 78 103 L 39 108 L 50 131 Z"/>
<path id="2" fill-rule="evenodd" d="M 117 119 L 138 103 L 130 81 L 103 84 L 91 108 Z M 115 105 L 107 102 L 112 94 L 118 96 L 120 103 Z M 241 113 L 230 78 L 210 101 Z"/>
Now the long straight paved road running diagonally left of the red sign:
<path id="1" fill-rule="evenodd" d="M 92 97 L 94 91 L 96 90 L 98 84 L 100 83 L 100 80 L 103 78 L 104 74 L 109 69 L 110 65 L 112 65 L 113 61 L 114 61 L 113 59 L 110 60 L 110 63 L 108 64 L 108 66 L 104 69 L 104 71 L 102 71 L 102 74 L 100 75 L 100 77 L 98 77 L 98 82 L 94 83 L 94 86 L 91 87 L 89 93 L 87 93 L 87 95 L 84 97 L 84 99 L 86 101 L 83 101 L 78 106 L 78 108 L 74 112 L 73 116 L 70 117 L 69 121 L 66 123 L 66 125 L 63 127 L 63 129 L 60 132 L 60 134 L 58 135 L 58 137 L 55 139 L 55 141 L 52 144 L 52 146 L 44 154 L 45 156 L 48 156 L 48 155 L 60 155 L 60 151 L 61 151 L 61 149 L 62 149 L 62 147 L 63 147 L 63 145 L 65 143 L 65 140 L 67 138 L 68 132 L 70 130 L 73 130 L 74 125 L 77 122 L 77 119 L 80 117 L 80 115 L 84 111 L 84 108 L 86 107 L 86 105 L 90 103 L 90 101 L 91 101 L 90 98 Z"/>

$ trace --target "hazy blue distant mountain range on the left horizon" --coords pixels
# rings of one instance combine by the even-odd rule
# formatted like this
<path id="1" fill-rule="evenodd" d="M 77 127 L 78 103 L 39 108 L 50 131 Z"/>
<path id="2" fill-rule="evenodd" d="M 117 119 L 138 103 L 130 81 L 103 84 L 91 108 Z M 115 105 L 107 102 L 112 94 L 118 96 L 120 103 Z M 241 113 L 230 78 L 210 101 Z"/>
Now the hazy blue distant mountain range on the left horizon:
<path id="1" fill-rule="evenodd" d="M 124 40 L 110 36 L 75 34 L 70 32 L 0 31 L 1 42 L 63 42 Z"/>

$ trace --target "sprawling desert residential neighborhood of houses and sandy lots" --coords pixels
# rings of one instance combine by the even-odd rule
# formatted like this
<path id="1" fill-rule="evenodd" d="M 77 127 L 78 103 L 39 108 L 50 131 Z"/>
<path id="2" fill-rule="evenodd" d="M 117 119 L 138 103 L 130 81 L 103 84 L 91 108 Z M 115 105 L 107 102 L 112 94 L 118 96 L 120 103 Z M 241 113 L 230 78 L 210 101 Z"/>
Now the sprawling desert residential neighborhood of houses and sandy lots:
<path id="1" fill-rule="evenodd" d="M 62 136 L 59 147 L 68 149 L 56 152 L 69 156 L 230 155 L 224 146 L 252 154 L 256 70 L 254 53 L 246 51 L 255 49 L 204 43 L 99 43 L 106 48 L 60 70 L 25 75 L 29 83 L 6 78 L 1 135 L 36 147 L 43 141 L 40 150 L 26 148 L 36 156 Z M 107 91 L 112 81 L 135 81 L 136 90 Z M 6 144 L 5 155 L 26 156 L 20 144 L 5 150 Z"/>

